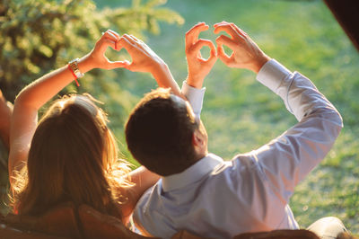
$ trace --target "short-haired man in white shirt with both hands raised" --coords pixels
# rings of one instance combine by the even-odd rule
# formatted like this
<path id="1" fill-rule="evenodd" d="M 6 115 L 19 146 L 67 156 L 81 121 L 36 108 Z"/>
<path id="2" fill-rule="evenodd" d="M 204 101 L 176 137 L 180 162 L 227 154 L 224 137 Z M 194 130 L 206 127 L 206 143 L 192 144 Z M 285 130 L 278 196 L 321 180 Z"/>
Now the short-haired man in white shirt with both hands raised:
<path id="1" fill-rule="evenodd" d="M 186 34 L 187 84 L 197 91 L 197 99 L 204 92 L 197 88 L 213 66 L 197 57 L 199 49 L 194 47 L 199 32 L 206 29 L 199 23 Z M 278 94 L 299 122 L 267 145 L 223 162 L 207 152 L 206 129 L 195 116 L 201 102 L 192 102 L 197 109 L 193 112 L 168 91 L 147 94 L 126 126 L 132 155 L 162 176 L 134 212 L 136 226 L 146 235 L 170 238 L 186 229 L 231 238 L 243 232 L 299 228 L 288 206 L 294 187 L 320 164 L 342 128 L 340 114 L 308 78 L 268 58 L 233 23 L 216 23 L 215 33 L 220 31 L 231 38 L 216 39 L 218 58 L 227 66 L 255 72 L 258 82 Z M 232 49 L 231 57 L 223 45 Z M 197 67 L 198 62 L 206 64 L 206 70 Z"/>

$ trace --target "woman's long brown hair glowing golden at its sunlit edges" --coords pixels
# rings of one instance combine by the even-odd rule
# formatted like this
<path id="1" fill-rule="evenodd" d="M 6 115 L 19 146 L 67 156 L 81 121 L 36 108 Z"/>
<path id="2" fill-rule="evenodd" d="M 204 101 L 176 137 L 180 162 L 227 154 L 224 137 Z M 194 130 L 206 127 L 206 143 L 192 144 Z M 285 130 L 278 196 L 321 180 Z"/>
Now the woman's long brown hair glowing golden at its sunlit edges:
<path id="1" fill-rule="evenodd" d="M 118 202 L 131 187 L 128 164 L 118 161 L 118 146 L 106 114 L 89 95 L 57 100 L 39 121 L 28 163 L 13 183 L 12 206 L 21 215 L 40 215 L 72 201 L 120 216 Z"/>

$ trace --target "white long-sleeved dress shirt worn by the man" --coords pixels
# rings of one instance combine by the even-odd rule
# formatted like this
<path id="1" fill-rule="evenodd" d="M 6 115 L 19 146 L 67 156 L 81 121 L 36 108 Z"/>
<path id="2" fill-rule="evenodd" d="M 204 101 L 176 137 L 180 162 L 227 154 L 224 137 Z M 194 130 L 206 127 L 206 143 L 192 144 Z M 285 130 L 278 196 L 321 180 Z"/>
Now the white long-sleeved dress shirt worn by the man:
<path id="1" fill-rule="evenodd" d="M 299 122 L 232 161 L 209 154 L 182 173 L 162 177 L 136 205 L 138 228 L 162 238 L 183 229 L 232 238 L 244 232 L 299 228 L 288 201 L 295 185 L 328 154 L 342 119 L 308 78 L 274 59 L 260 69 L 257 80 L 278 94 Z M 193 97 L 201 99 L 201 93 Z M 194 104 L 197 113 L 201 105 Z"/>

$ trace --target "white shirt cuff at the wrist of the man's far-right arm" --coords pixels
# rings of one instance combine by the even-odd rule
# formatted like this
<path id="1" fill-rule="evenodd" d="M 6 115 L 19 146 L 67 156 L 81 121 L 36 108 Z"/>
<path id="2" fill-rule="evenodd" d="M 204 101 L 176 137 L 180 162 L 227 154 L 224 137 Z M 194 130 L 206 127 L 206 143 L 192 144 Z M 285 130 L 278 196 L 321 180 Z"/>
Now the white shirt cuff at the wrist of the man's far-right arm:
<path id="1" fill-rule="evenodd" d="M 260 68 L 257 80 L 261 84 L 266 85 L 274 93 L 277 93 L 279 85 L 285 78 L 288 78 L 288 75 L 292 75 L 290 70 L 275 59 L 271 59 Z"/>

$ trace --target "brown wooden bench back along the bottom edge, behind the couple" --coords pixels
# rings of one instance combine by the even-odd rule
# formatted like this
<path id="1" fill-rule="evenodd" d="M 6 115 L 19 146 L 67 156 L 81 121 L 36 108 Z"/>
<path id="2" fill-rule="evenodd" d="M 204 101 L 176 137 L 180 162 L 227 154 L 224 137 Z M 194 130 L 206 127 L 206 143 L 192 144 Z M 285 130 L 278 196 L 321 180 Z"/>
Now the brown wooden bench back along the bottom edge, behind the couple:
<path id="1" fill-rule="evenodd" d="M 75 207 L 68 202 L 49 210 L 39 217 L 8 215 L 0 218 L 0 238 L 24 239 L 112 239 L 112 238 L 148 238 L 130 231 L 122 222 L 109 215 L 82 205 Z M 276 230 L 263 233 L 241 234 L 234 239 L 282 239 L 282 238 L 312 238 L 318 239 L 307 230 Z M 180 231 L 172 239 L 205 239 L 192 235 L 187 231 Z"/>

